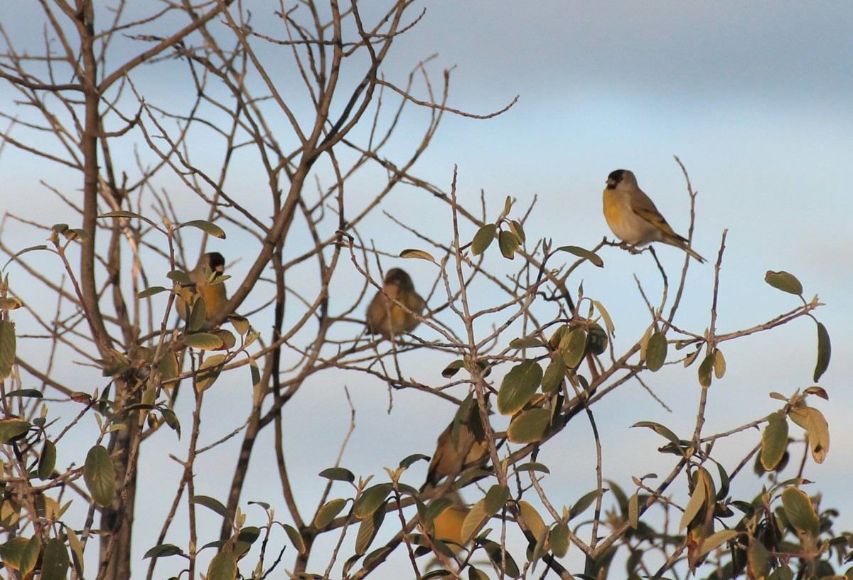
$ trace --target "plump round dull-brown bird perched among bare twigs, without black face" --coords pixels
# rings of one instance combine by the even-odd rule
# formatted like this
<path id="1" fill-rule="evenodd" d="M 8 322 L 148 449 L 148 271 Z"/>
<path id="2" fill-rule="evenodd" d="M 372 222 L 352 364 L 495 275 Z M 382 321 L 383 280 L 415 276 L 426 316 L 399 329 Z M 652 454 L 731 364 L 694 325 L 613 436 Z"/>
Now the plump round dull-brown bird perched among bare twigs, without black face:
<path id="1" fill-rule="evenodd" d="M 400 268 L 388 270 L 382 284 L 382 291 L 377 292 L 374 299 L 370 301 L 365 316 L 368 332 L 381 334 L 385 339 L 390 339 L 395 334 L 411 332 L 420 322 L 388 297 L 396 299 L 418 316 L 421 316 L 426 304 L 421 295 L 415 292 L 415 284 L 405 270 Z"/>

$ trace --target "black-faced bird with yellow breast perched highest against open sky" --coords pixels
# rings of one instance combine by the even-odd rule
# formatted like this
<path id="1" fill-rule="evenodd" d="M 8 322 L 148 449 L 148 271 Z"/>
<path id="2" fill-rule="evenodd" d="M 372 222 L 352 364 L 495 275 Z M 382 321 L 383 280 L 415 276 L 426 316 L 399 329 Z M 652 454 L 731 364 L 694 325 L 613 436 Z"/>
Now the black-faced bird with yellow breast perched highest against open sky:
<path id="1" fill-rule="evenodd" d="M 690 256 L 705 262 L 705 258 L 688 246 L 688 240 L 676 234 L 654 202 L 637 185 L 634 173 L 627 169 L 612 171 L 604 189 L 604 217 L 613 234 L 632 246 L 645 246 L 652 241 L 676 246 Z"/>

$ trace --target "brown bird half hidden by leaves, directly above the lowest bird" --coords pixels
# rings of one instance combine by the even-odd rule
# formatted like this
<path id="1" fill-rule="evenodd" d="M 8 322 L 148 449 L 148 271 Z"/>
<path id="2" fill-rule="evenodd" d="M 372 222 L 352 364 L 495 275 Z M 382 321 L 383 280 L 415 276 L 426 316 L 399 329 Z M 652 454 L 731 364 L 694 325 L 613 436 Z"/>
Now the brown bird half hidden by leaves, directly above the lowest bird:
<path id="1" fill-rule="evenodd" d="M 455 425 L 456 419 L 450 421 L 450 425 L 438 436 L 438 443 L 427 469 L 427 481 L 424 482 L 421 491 L 435 487 L 444 477 L 458 475 L 463 469 L 489 454 L 477 404 L 471 405 L 466 420 L 459 424 L 456 444 L 453 440 Z"/>

